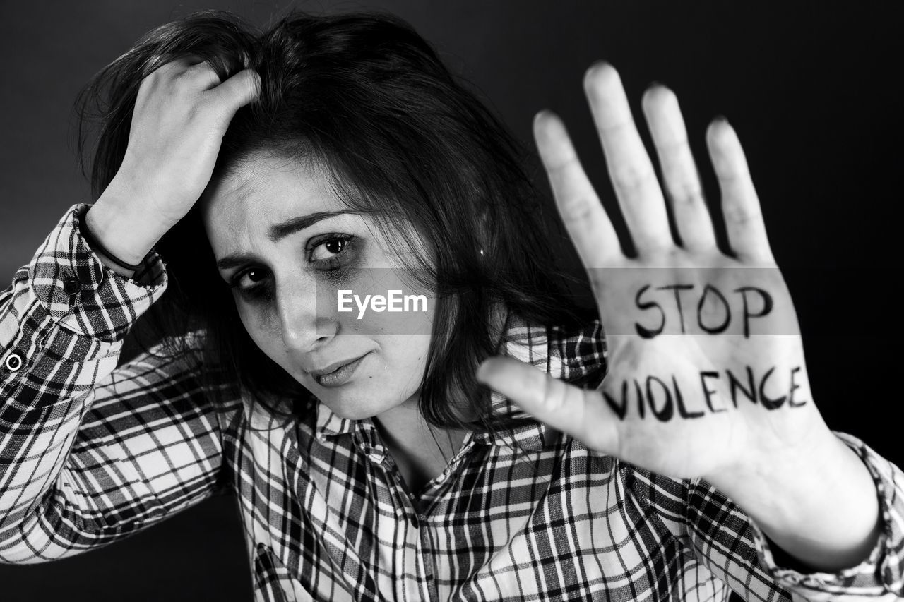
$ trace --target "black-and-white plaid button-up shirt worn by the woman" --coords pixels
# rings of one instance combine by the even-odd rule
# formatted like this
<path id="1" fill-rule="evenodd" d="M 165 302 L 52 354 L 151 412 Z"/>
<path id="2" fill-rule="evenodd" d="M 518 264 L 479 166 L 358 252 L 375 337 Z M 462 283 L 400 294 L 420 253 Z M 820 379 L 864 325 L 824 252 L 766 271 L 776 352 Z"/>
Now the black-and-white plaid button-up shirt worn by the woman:
<path id="1" fill-rule="evenodd" d="M 904 595 L 904 475 L 855 437 L 838 434 L 877 486 L 880 541 L 857 567 L 802 574 L 777 566 L 706 482 L 639 470 L 537 422 L 468 434 L 414 496 L 370 419 L 319 405 L 287 424 L 240 395 L 214 407 L 187 357 L 118 366 L 165 265 L 150 253 L 139 280 L 105 268 L 78 230 L 87 207 L 73 205 L 0 294 L 4 562 L 76 554 L 235 492 L 258 600 Z M 598 385 L 605 372 L 598 322 L 566 333 L 513 318 L 500 353 L 567 381 Z"/>

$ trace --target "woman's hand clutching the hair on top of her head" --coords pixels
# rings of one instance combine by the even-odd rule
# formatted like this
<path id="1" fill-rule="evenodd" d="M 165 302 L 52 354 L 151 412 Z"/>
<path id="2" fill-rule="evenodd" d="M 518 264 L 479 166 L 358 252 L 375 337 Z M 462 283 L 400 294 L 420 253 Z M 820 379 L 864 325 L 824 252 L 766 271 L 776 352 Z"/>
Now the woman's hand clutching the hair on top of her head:
<path id="1" fill-rule="evenodd" d="M 201 196 L 232 117 L 259 89 L 252 69 L 221 82 L 191 56 L 142 80 L 122 165 L 88 212 L 101 243 L 131 263 L 142 259 Z"/>

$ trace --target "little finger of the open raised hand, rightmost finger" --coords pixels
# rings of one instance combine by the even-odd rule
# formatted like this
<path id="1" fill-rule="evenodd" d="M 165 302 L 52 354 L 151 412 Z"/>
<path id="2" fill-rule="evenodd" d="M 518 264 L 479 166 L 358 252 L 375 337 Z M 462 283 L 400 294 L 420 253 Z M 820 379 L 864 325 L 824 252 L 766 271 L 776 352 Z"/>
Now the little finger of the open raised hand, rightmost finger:
<path id="1" fill-rule="evenodd" d="M 728 121 L 716 119 L 706 130 L 706 143 L 719 179 L 731 249 L 739 259 L 771 263 L 766 224 L 738 135 Z"/>

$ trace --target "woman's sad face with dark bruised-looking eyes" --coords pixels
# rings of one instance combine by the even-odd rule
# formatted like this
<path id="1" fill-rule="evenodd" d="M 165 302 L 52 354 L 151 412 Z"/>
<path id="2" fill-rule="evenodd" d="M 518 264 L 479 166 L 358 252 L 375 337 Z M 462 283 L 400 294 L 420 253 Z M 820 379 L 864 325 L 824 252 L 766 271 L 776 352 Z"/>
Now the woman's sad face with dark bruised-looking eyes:
<path id="1" fill-rule="evenodd" d="M 318 170 L 274 157 L 210 183 L 200 202 L 242 325 L 271 360 L 344 418 L 416 404 L 435 300 L 401 283 L 397 248 L 372 218 L 351 212 Z M 375 296 L 387 299 L 382 310 Z"/>

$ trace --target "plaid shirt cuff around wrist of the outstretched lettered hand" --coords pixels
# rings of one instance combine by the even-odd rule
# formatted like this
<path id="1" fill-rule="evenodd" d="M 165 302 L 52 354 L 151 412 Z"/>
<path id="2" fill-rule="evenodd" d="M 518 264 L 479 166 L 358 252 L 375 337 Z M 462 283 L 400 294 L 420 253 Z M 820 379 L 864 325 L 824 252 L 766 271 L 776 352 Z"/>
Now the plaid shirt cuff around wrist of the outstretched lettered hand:
<path id="1" fill-rule="evenodd" d="M 770 541 L 751 521 L 759 558 L 779 585 L 807 599 L 831 599 L 841 595 L 882 596 L 889 593 L 904 595 L 904 491 L 901 490 L 904 474 L 859 438 L 846 433 L 834 434 L 861 457 L 876 484 L 882 522 L 876 546 L 866 560 L 854 567 L 833 573 L 805 573 L 779 566 Z"/>

